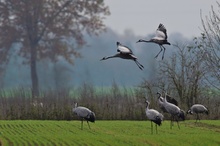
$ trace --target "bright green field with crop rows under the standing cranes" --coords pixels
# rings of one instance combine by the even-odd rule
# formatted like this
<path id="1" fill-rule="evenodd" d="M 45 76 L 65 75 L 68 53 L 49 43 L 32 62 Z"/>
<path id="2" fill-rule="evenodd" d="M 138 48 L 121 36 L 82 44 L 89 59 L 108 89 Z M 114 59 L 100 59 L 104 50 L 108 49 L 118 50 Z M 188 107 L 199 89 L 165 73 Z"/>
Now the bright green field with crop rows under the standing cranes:
<path id="1" fill-rule="evenodd" d="M 158 134 L 151 134 L 149 121 L 0 121 L 0 144 L 19 146 L 54 145 L 220 145 L 220 120 L 202 120 L 176 123 L 164 121 Z"/>

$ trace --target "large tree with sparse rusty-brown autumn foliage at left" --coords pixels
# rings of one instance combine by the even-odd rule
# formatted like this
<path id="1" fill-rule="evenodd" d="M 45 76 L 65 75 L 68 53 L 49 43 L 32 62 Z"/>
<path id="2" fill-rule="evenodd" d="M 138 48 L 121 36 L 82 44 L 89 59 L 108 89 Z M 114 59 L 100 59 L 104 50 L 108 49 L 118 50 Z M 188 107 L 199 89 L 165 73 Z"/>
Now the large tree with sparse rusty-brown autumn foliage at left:
<path id="1" fill-rule="evenodd" d="M 73 64 L 83 35 L 103 31 L 109 14 L 103 0 L 1 0 L 0 61 L 7 62 L 9 48 L 20 43 L 18 55 L 30 64 L 32 94 L 38 96 L 37 60 L 64 58 Z"/>

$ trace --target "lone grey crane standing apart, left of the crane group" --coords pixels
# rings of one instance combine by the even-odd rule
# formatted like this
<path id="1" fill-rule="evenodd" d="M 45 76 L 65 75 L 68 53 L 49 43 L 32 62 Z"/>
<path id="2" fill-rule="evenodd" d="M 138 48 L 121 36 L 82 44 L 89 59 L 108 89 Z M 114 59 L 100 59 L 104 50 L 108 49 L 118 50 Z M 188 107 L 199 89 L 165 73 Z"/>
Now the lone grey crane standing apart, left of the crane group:
<path id="1" fill-rule="evenodd" d="M 75 107 L 73 108 L 73 113 L 75 113 L 80 119 L 81 119 L 81 129 L 83 129 L 83 120 L 87 121 L 87 124 L 90 128 L 89 122 L 95 122 L 95 113 L 92 112 L 90 109 L 78 106 L 77 103 L 75 103 Z"/>

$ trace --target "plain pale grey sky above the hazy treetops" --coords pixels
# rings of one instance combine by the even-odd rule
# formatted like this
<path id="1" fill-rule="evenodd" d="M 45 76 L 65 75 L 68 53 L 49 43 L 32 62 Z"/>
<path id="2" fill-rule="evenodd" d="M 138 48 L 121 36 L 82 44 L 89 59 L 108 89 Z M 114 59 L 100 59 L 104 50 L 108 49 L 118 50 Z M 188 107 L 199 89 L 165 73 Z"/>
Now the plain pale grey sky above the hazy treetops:
<path id="1" fill-rule="evenodd" d="M 105 24 L 119 34 L 131 29 L 136 35 L 154 33 L 159 23 L 167 28 L 168 35 L 178 32 L 185 37 L 199 36 L 202 14 L 209 15 L 215 0 L 105 0 L 111 15 Z"/>

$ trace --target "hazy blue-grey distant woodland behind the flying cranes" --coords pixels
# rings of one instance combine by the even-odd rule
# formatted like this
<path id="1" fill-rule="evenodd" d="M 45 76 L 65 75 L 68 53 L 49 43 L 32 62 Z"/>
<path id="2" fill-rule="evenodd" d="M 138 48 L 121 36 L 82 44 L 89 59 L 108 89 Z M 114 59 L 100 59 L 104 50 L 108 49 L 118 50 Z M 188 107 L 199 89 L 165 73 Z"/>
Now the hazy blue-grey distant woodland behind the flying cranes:
<path id="1" fill-rule="evenodd" d="M 114 32 L 110 28 L 99 36 L 85 36 L 87 45 L 79 49 L 82 58 L 76 58 L 74 65 L 68 64 L 62 58 L 56 63 L 49 60 L 41 60 L 38 65 L 39 84 L 41 88 L 71 88 L 82 83 L 92 83 L 96 86 L 111 86 L 116 82 L 121 86 L 136 86 L 143 79 L 153 80 L 158 70 L 158 64 L 162 53 L 157 59 L 154 56 L 160 51 L 160 47 L 153 43 L 136 43 L 139 39 L 150 39 L 154 32 L 148 36 L 139 36 L 132 30 L 126 30 L 123 35 Z M 186 44 L 189 40 L 180 33 L 170 34 L 168 41 L 171 44 Z M 116 42 L 132 49 L 138 61 L 144 65 L 141 71 L 132 60 L 113 58 L 100 61 L 104 56 L 117 53 Z M 175 51 L 175 47 L 165 46 L 165 58 Z M 22 58 L 13 52 L 19 49 L 19 45 L 11 48 L 13 58 L 6 68 L 3 76 L 3 88 L 31 87 L 29 65 L 23 64 Z"/>

